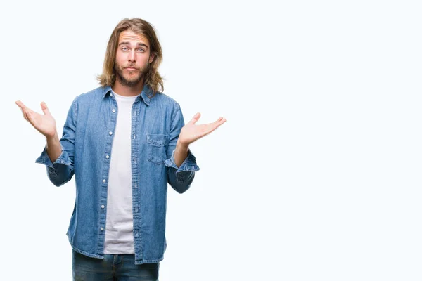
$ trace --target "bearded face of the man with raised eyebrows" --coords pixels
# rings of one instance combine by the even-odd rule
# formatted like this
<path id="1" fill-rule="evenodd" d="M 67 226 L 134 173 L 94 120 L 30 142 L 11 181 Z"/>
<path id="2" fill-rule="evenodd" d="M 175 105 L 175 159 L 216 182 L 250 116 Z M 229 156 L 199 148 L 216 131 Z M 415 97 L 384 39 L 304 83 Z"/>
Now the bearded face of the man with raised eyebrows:
<path id="1" fill-rule="evenodd" d="M 146 37 L 130 30 L 120 33 L 115 61 L 117 81 L 123 86 L 136 86 L 152 61 Z"/>

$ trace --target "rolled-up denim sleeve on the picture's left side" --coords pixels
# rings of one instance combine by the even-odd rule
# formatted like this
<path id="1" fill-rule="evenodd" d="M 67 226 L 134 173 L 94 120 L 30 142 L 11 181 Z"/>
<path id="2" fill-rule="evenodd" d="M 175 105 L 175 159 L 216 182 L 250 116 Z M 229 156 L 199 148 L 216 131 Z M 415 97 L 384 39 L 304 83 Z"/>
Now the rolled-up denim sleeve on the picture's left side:
<path id="1" fill-rule="evenodd" d="M 75 131 L 76 131 L 77 105 L 76 98 L 68 111 L 63 136 L 60 138 L 62 152 L 56 161 L 51 162 L 46 146 L 35 163 L 46 165 L 47 176 L 51 183 L 56 186 L 63 185 L 72 179 L 75 173 L 74 152 L 75 152 Z"/>

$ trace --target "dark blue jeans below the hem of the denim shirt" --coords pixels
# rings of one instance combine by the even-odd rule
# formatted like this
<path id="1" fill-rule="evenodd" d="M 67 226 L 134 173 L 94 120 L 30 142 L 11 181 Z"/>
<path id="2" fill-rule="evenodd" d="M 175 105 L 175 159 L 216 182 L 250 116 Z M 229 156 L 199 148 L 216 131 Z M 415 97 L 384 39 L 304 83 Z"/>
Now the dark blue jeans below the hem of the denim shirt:
<path id="1" fill-rule="evenodd" d="M 160 263 L 135 264 L 134 254 L 104 254 L 90 258 L 72 250 L 74 281 L 158 281 Z"/>

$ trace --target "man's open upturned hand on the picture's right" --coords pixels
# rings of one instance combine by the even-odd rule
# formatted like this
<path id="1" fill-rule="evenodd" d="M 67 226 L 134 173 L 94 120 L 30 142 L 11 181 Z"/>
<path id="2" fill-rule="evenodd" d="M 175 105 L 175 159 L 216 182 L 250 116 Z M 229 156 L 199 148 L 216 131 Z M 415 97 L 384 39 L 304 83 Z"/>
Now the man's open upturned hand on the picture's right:
<path id="1" fill-rule="evenodd" d="M 196 125 L 196 122 L 198 122 L 199 117 L 200 113 L 198 112 L 195 116 L 193 116 L 193 118 L 191 119 L 191 121 L 188 122 L 188 124 L 185 124 L 183 128 L 181 128 L 179 134 L 179 142 L 181 144 L 189 145 L 190 143 L 193 143 L 199 138 L 207 136 L 207 134 L 211 133 L 227 121 L 225 118 L 219 117 L 219 119 L 217 119 L 217 121 L 215 122 Z"/>

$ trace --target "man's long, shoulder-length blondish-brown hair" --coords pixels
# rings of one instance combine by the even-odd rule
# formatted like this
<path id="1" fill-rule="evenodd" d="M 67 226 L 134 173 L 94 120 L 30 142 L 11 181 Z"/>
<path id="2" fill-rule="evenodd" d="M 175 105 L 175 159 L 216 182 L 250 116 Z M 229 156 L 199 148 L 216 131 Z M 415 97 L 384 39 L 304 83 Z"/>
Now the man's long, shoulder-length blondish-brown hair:
<path id="1" fill-rule="evenodd" d="M 143 77 L 143 84 L 150 86 L 153 94 L 164 91 L 163 78 L 158 73 L 158 67 L 162 62 L 161 45 L 151 23 L 141 18 L 124 18 L 120 21 L 108 40 L 106 58 L 104 59 L 103 74 L 98 75 L 97 80 L 101 86 L 113 86 L 116 81 L 115 60 L 120 32 L 130 30 L 145 36 L 150 43 L 151 55 L 154 55 L 153 62 L 148 67 L 148 72 Z"/>

